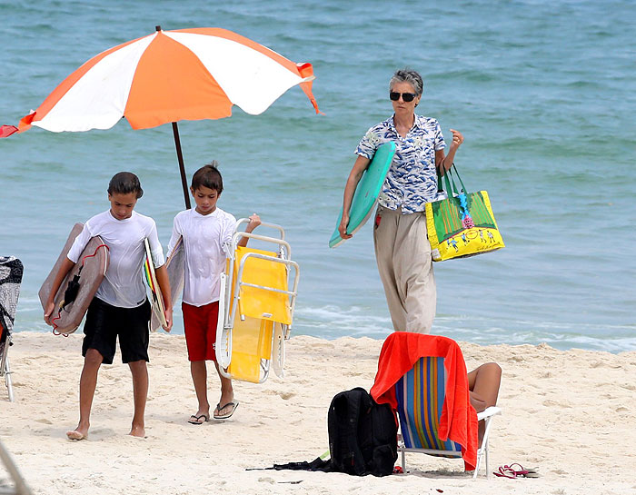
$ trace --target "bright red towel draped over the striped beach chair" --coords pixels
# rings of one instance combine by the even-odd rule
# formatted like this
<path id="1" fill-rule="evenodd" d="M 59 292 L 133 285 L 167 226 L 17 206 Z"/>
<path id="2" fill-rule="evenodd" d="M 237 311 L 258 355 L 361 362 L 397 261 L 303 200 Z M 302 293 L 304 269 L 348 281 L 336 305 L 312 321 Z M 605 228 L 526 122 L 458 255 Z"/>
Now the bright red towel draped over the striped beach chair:
<path id="1" fill-rule="evenodd" d="M 457 342 L 440 335 L 394 332 L 384 341 L 378 372 L 371 388 L 373 400 L 391 404 L 397 409 L 395 383 L 412 369 L 422 357 L 444 358 L 446 397 L 440 419 L 440 440 L 448 439 L 462 445 L 465 470 L 474 470 L 477 463 L 477 412 L 471 405 L 466 363 Z"/>

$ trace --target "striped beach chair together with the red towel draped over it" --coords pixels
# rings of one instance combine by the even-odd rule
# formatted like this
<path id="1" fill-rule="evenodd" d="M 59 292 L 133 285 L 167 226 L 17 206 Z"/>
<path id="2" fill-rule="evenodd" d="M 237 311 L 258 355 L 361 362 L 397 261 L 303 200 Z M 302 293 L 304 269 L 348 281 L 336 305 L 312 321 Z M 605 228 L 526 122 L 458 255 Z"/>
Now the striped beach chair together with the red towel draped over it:
<path id="1" fill-rule="evenodd" d="M 405 453 L 420 452 L 464 460 L 466 470 L 479 473 L 492 418 L 501 409 L 489 407 L 479 414 L 470 404 L 466 364 L 457 342 L 440 335 L 394 332 L 383 344 L 372 396 L 390 403 L 398 413 L 401 434 L 398 451 L 402 470 Z M 477 445 L 477 421 L 485 421 L 482 446 Z"/>

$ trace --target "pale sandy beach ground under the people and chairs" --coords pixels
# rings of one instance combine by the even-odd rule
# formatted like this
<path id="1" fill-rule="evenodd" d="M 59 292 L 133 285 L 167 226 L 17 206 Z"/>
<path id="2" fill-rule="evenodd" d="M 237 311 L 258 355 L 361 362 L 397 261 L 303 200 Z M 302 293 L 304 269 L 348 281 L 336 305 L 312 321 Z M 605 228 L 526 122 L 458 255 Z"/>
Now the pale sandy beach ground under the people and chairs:
<path id="1" fill-rule="evenodd" d="M 407 454 L 405 475 L 246 470 L 313 460 L 328 450 L 326 414 L 333 395 L 369 389 L 381 341 L 288 342 L 286 376 L 263 385 L 236 382 L 240 407 L 228 421 L 187 423 L 194 387 L 183 335 L 151 336 L 147 438 L 126 433 L 132 385 L 119 353 L 100 371 L 87 441 L 66 440 L 77 421 L 81 334 L 16 332 L 10 359 L 15 402 L 0 388 L 0 439 L 35 493 L 635 493 L 636 351 L 557 351 L 538 346 L 461 343 L 469 369 L 502 365 L 493 423 L 491 470 L 520 462 L 539 479 L 462 473 L 459 460 Z M 218 381 L 210 386 L 211 401 Z M 0 486 L 6 482 L 0 467 Z"/>

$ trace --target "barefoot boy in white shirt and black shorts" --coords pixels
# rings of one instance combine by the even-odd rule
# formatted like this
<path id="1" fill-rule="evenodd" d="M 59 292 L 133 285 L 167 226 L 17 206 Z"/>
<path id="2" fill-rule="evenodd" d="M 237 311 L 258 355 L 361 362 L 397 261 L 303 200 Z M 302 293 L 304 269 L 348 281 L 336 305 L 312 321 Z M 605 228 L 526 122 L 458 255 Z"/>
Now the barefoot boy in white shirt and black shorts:
<path id="1" fill-rule="evenodd" d="M 67 431 L 69 440 L 84 440 L 90 427 L 90 413 L 97 373 L 104 362 L 112 364 L 117 337 L 122 361 L 128 363 L 133 375 L 134 416 L 130 434 L 144 437 L 144 411 L 148 395 L 148 338 L 150 303 L 146 298 L 142 269 L 144 267 L 144 239 L 150 243 L 157 282 L 164 293 L 164 329 L 172 328 L 170 282 L 164 266 L 164 252 L 159 243 L 154 220 L 134 212 L 134 205 L 144 190 L 139 178 L 130 172 L 116 173 L 108 184 L 111 208 L 84 223 L 75 238 L 65 261 L 55 276 L 51 295 L 46 302 L 45 322 L 52 324 L 54 297 L 66 274 L 79 261 L 91 237 L 99 235 L 110 252 L 110 262 L 104 281 L 100 284 L 86 313 L 82 355 L 84 369 L 80 377 L 80 420 L 77 428 Z"/>

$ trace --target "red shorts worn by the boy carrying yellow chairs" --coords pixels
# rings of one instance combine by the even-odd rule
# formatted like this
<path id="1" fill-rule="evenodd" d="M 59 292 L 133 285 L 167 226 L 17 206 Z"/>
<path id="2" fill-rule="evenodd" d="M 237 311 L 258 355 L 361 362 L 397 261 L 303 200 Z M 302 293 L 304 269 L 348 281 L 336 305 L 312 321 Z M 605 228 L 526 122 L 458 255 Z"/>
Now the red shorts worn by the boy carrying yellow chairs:
<path id="1" fill-rule="evenodd" d="M 182 302 L 184 312 L 185 343 L 190 361 L 216 361 L 216 322 L 219 302 L 192 306 Z"/>

